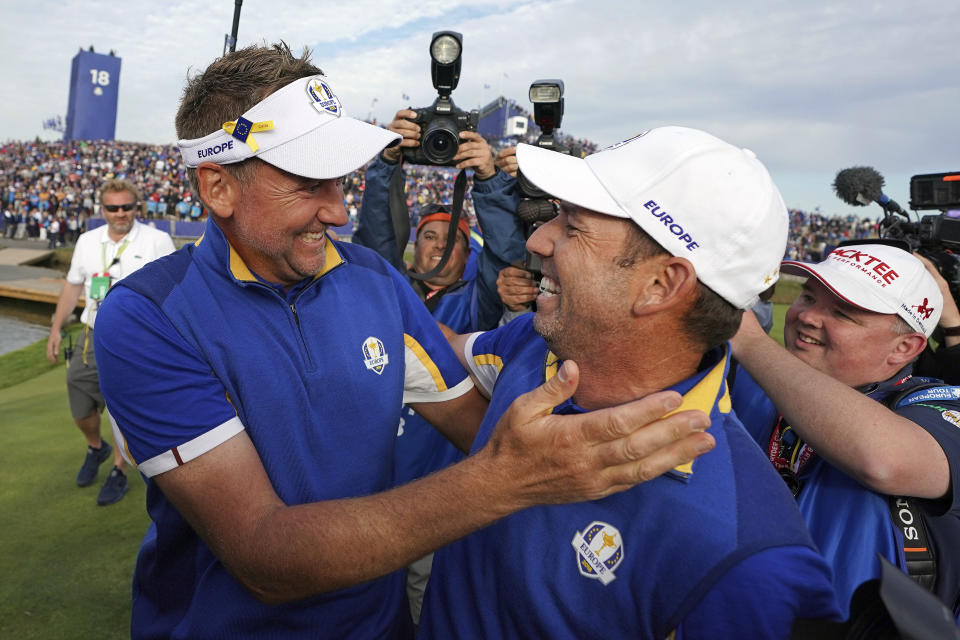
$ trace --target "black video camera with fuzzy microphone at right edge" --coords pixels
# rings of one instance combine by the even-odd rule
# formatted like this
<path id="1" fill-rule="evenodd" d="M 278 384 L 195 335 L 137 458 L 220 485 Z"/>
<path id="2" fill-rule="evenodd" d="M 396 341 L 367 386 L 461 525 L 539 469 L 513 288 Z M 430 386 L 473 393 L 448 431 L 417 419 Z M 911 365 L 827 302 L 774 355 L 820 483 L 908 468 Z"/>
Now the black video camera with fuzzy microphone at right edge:
<path id="1" fill-rule="evenodd" d="M 837 174 L 833 188 L 847 204 L 879 204 L 883 208 L 880 237 L 901 240 L 930 260 L 950 285 L 953 299 L 960 301 L 960 172 L 910 178 L 910 208 L 940 211 L 918 222 L 911 222 L 909 214 L 883 194 L 883 184 L 883 176 L 873 168 L 852 167 Z"/>

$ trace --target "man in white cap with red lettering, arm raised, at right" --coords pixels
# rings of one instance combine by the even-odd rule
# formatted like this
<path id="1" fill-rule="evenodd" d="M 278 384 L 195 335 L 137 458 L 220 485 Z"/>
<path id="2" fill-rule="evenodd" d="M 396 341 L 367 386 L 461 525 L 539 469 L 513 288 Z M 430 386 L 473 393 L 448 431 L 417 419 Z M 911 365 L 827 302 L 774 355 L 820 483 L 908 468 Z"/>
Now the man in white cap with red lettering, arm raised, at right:
<path id="1" fill-rule="evenodd" d="M 733 340 L 762 386 L 737 373 L 738 415 L 796 496 L 845 614 L 880 575 L 877 554 L 958 613 L 960 387 L 912 375 L 943 307 L 937 283 L 885 241 L 782 271 L 808 279 L 786 350 L 750 317 Z"/>

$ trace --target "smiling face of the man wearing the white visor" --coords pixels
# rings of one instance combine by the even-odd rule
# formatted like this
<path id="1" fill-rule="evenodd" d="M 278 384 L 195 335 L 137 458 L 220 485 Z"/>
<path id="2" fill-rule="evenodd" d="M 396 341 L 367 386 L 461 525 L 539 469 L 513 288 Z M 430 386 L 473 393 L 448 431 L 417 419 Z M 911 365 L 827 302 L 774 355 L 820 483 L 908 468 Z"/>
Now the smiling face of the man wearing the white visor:
<path id="1" fill-rule="evenodd" d="M 340 179 L 301 178 L 260 163 L 224 234 L 254 273 L 291 286 L 323 268 L 327 228 L 346 223 Z"/>

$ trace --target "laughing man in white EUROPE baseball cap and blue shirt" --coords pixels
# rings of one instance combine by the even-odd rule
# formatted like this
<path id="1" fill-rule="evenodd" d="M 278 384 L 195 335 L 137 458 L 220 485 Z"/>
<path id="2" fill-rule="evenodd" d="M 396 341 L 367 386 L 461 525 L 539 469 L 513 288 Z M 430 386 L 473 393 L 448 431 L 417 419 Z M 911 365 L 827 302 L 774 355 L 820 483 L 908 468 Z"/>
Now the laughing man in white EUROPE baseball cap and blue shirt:
<path id="1" fill-rule="evenodd" d="M 671 389 L 709 416 L 716 448 L 623 493 L 527 509 L 441 549 L 421 636 L 785 638 L 798 617 L 837 615 L 830 570 L 725 383 L 726 340 L 777 278 L 787 240 L 766 169 L 682 127 L 583 159 L 520 145 L 517 159 L 562 203 L 527 242 L 543 262 L 536 313 L 454 340 L 491 395 L 474 449 L 514 398 L 571 359 L 580 385 L 556 413 Z"/>

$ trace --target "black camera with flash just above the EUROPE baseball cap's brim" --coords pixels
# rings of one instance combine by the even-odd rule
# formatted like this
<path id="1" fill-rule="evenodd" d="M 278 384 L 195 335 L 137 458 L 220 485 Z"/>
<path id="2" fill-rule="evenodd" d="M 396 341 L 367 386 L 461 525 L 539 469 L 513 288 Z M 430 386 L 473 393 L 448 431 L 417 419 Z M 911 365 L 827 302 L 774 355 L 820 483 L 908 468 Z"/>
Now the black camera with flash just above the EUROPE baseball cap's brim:
<path id="1" fill-rule="evenodd" d="M 530 85 L 530 102 L 533 103 L 533 121 L 540 127 L 537 146 L 559 153 L 571 154 L 572 150 L 561 145 L 553 136 L 563 120 L 563 80 L 535 80 Z M 524 223 L 527 238 L 545 222 L 557 216 L 557 205 L 549 196 L 527 180 L 522 171 L 517 172 L 517 187 L 520 189 L 520 203 L 517 205 L 517 217 Z M 523 262 L 523 268 L 540 279 L 540 258 L 529 251 Z"/>

